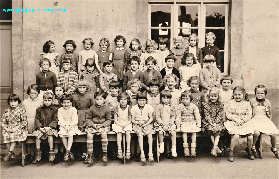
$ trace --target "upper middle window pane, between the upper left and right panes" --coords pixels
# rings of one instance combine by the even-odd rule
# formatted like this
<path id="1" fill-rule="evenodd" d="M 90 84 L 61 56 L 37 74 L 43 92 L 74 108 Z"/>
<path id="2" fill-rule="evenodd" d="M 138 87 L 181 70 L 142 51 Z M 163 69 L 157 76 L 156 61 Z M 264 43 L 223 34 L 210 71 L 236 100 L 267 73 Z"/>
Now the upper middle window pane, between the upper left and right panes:
<path id="1" fill-rule="evenodd" d="M 178 6 L 178 26 L 198 26 L 198 5 Z"/>

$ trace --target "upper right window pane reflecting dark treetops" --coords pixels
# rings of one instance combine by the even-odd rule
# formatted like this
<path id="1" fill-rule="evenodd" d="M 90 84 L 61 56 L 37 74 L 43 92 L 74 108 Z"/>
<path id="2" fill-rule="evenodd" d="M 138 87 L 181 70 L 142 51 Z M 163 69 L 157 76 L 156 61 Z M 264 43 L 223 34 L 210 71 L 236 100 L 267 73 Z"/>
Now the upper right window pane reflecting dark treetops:
<path id="1" fill-rule="evenodd" d="M 226 5 L 206 6 L 206 27 L 225 27 Z"/>

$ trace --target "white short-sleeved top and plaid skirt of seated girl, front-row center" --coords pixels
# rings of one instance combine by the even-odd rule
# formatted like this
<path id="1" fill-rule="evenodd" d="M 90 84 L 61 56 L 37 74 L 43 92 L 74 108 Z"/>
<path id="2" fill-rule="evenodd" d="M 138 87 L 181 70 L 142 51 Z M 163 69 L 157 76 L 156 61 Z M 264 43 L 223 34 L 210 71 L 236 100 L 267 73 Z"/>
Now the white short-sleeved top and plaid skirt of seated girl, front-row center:
<path id="1" fill-rule="evenodd" d="M 135 116 L 136 121 L 144 121 L 144 124 L 146 124 L 149 121 L 149 115 L 153 113 L 153 108 L 149 104 L 145 104 L 142 112 L 140 111 L 138 105 L 135 105 L 131 109 L 131 115 Z M 155 134 L 153 122 L 148 124 L 145 127 L 141 127 L 139 124 L 133 124 L 133 130 L 134 132 L 139 135 L 147 135 L 147 134 Z"/>

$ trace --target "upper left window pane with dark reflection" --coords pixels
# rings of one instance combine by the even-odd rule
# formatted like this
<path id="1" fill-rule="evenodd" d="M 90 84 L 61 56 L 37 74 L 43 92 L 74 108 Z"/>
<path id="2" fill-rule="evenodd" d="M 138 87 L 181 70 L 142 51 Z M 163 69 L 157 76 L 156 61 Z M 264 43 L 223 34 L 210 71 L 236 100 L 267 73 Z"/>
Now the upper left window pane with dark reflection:
<path id="1" fill-rule="evenodd" d="M 170 27 L 171 6 L 151 5 L 151 26 Z"/>

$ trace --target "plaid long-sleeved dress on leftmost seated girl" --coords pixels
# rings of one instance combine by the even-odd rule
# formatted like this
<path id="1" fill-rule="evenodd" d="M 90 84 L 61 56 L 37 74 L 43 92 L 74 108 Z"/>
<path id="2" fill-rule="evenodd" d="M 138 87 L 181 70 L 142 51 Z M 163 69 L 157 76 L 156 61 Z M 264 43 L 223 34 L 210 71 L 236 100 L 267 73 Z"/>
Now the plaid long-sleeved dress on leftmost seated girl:
<path id="1" fill-rule="evenodd" d="M 1 127 L 3 128 L 3 143 L 25 141 L 27 138 L 26 124 L 26 114 L 22 108 L 16 107 L 5 109 L 5 112 L 1 118 Z M 19 129 L 16 130 L 16 132 L 8 133 L 4 130 L 4 127 L 7 127 L 8 129 L 18 127 Z"/>

